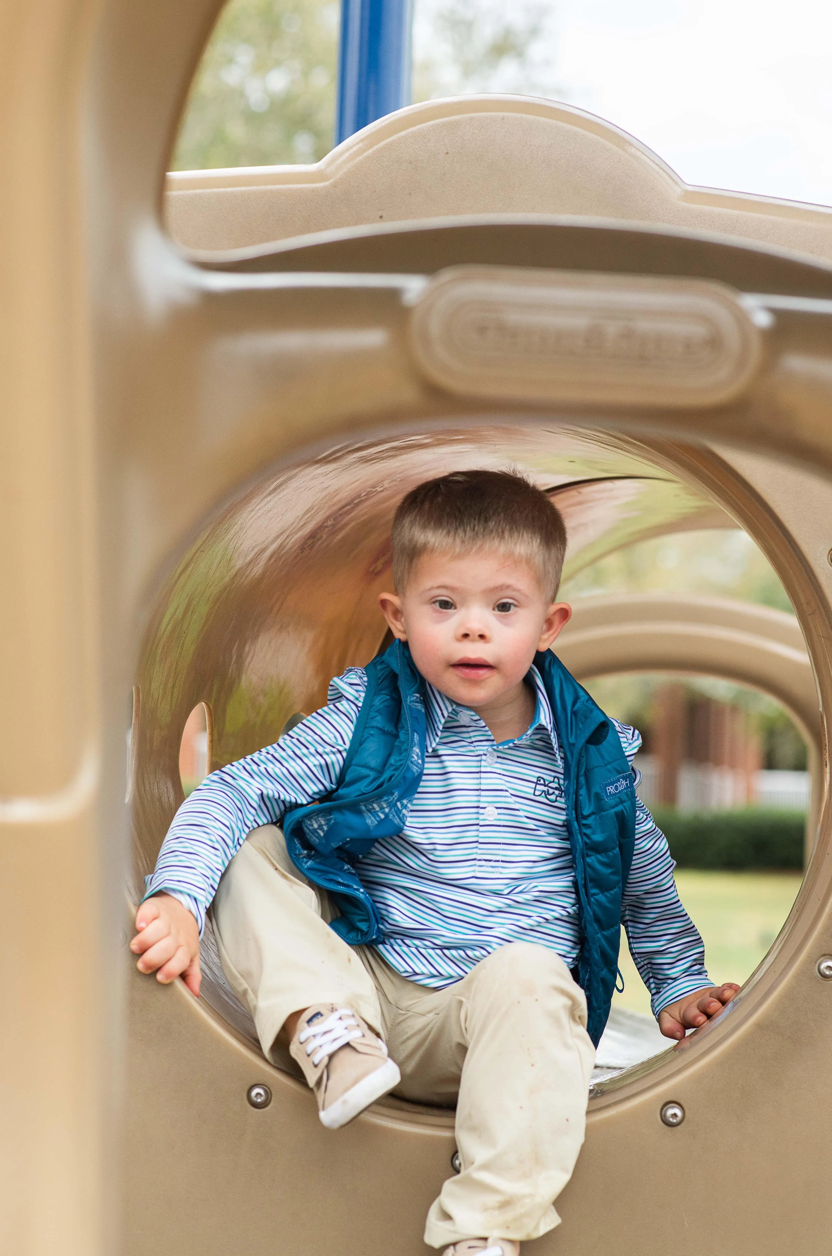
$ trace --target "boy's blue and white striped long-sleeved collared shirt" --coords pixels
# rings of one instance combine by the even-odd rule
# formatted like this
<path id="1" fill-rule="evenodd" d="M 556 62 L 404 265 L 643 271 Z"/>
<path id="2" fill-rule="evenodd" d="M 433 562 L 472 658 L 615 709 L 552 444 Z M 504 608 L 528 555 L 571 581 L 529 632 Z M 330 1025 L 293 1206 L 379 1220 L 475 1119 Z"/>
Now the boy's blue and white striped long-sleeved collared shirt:
<path id="1" fill-rule="evenodd" d="M 381 918 L 377 950 L 410 981 L 442 988 L 508 942 L 578 958 L 578 902 L 566 826 L 563 761 L 543 682 L 529 673 L 537 707 L 513 741 L 427 685 L 425 772 L 402 833 L 356 863 Z M 336 785 L 366 691 L 363 668 L 329 686 L 328 706 L 239 762 L 212 772 L 177 811 L 147 893 L 166 891 L 200 928 L 222 872 L 260 824 Z M 635 728 L 613 721 L 630 762 Z M 641 803 L 623 896 L 630 950 L 654 1012 L 710 985 L 701 938 L 679 901 L 664 834 Z"/>

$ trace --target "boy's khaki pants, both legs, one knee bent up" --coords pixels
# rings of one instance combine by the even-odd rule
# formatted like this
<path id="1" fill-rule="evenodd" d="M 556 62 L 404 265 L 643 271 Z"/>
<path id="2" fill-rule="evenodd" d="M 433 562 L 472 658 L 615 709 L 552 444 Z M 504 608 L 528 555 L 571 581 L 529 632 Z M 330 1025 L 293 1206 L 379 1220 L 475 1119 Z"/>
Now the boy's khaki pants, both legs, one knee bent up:
<path id="1" fill-rule="evenodd" d="M 550 950 L 500 947 L 463 980 L 427 990 L 327 923 L 326 896 L 290 863 L 274 825 L 255 829 L 212 906 L 222 968 L 254 1017 L 265 1055 L 290 1012 L 352 1007 L 385 1039 L 402 1080 L 396 1094 L 456 1104 L 461 1172 L 427 1215 L 425 1242 L 537 1238 L 583 1143 L 594 1050 L 583 991 Z"/>

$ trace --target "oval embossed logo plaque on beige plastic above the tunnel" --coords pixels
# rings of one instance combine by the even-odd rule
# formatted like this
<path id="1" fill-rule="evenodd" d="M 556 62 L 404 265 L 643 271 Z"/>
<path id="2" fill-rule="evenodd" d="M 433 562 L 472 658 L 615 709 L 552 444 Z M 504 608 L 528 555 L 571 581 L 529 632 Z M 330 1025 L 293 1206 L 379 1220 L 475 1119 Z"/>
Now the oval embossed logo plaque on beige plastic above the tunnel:
<path id="1" fill-rule="evenodd" d="M 440 271 L 411 334 L 442 388 L 535 402 L 719 406 L 762 357 L 759 328 L 724 284 L 513 266 Z"/>

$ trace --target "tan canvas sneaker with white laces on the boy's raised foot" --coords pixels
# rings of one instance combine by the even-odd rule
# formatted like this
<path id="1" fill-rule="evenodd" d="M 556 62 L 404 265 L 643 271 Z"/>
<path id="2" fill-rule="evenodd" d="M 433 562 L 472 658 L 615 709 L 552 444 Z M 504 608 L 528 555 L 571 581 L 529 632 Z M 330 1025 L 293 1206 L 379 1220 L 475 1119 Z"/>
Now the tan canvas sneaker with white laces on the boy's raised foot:
<path id="1" fill-rule="evenodd" d="M 289 1051 L 314 1090 L 327 1129 L 341 1129 L 401 1081 L 382 1040 L 349 1007 L 308 1007 Z"/>

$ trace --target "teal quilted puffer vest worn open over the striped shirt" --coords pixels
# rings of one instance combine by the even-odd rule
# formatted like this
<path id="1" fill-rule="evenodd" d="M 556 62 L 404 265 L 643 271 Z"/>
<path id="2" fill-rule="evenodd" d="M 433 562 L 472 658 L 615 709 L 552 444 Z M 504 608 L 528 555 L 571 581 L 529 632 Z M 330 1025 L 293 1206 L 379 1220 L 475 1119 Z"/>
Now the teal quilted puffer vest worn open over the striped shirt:
<path id="1" fill-rule="evenodd" d="M 621 896 L 630 873 L 636 795 L 615 725 L 545 652 L 538 668 L 564 762 L 567 828 L 574 859 L 581 928 L 578 980 L 597 1045 L 610 1015 L 618 968 Z M 333 896 L 332 928 L 351 946 L 382 938 L 376 907 L 354 860 L 378 838 L 401 833 L 425 769 L 425 682 L 407 646 L 396 641 L 367 667 L 367 693 L 332 794 L 284 816 L 293 863 Z"/>

